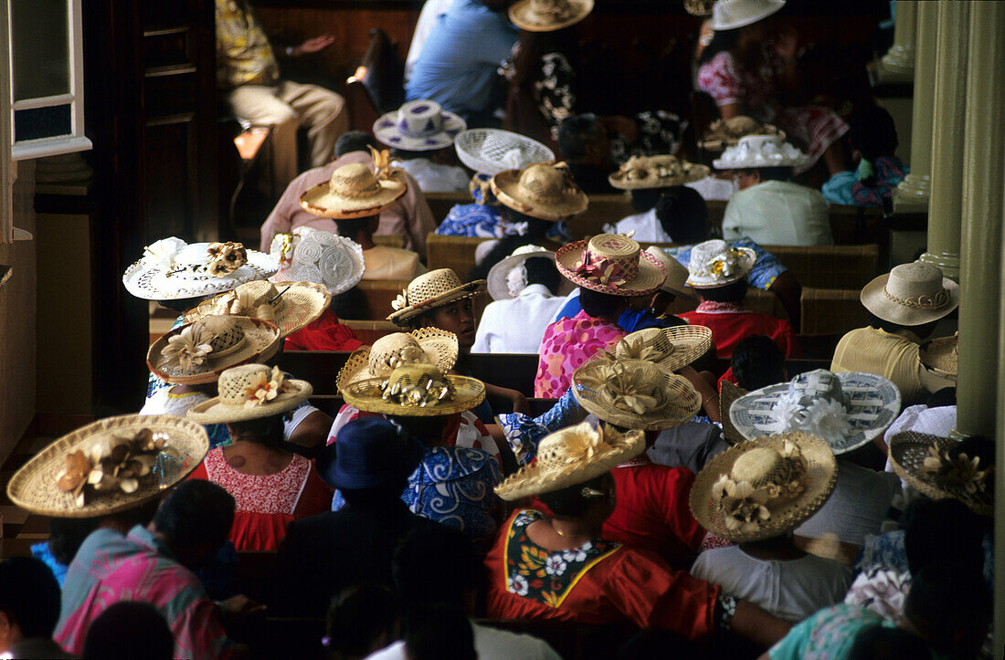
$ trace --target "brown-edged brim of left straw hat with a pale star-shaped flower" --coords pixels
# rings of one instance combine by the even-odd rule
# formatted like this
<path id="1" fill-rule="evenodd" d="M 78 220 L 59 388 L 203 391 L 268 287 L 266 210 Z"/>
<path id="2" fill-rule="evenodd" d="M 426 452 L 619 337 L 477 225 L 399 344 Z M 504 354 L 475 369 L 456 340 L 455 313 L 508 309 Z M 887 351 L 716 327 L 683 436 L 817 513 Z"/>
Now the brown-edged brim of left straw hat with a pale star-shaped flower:
<path id="1" fill-rule="evenodd" d="M 171 370 L 164 365 L 164 349 L 168 346 L 168 341 L 191 323 L 179 325 L 167 335 L 162 336 L 154 342 L 147 352 L 147 368 L 165 383 L 173 385 L 201 385 L 204 383 L 215 383 L 220 378 L 220 374 L 231 367 L 238 367 L 247 363 L 265 362 L 279 351 L 282 338 L 279 328 L 274 323 L 260 318 L 250 316 L 232 316 L 241 324 L 244 331 L 245 344 L 234 353 L 227 354 L 222 358 L 214 360 L 207 356 L 206 362 L 199 367 L 198 373 L 183 374 Z M 211 356 L 212 354 L 210 354 Z"/>

